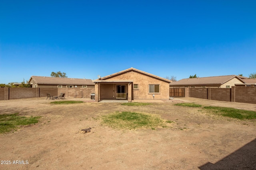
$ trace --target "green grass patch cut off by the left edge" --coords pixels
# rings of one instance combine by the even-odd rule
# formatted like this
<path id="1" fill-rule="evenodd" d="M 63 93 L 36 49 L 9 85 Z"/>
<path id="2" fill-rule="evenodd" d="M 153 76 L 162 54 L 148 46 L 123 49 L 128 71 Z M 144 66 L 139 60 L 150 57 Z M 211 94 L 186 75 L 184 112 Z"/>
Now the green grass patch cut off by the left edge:
<path id="1" fill-rule="evenodd" d="M 18 129 L 21 125 L 30 125 L 38 123 L 40 116 L 25 117 L 18 113 L 0 115 L 0 133 L 10 132 Z"/>

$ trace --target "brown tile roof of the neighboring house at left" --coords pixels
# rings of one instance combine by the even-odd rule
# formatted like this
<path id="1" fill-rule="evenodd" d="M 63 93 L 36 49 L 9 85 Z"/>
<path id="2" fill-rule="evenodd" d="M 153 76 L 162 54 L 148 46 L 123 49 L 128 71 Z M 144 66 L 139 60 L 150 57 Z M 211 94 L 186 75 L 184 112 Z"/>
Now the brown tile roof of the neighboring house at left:
<path id="1" fill-rule="evenodd" d="M 32 79 L 36 82 L 36 84 L 94 85 L 91 79 L 82 79 L 82 78 L 31 76 L 28 83 L 30 83 Z"/>

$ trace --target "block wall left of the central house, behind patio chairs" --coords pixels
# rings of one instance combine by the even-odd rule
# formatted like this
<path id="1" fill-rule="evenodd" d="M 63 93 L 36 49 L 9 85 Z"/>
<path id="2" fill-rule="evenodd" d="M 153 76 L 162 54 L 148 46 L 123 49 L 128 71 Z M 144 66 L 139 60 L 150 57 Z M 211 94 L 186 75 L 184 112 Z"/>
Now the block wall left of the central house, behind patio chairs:
<path id="1" fill-rule="evenodd" d="M 0 100 L 38 98 L 58 96 L 65 93 L 65 97 L 90 98 L 94 93 L 93 88 L 0 88 Z"/>

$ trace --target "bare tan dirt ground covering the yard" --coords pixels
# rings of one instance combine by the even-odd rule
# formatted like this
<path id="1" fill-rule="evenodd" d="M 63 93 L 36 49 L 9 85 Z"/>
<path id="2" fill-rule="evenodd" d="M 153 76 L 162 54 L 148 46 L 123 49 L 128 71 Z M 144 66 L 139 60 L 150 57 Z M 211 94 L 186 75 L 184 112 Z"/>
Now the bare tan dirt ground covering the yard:
<path id="1" fill-rule="evenodd" d="M 0 169 L 256 169 L 256 120 L 174 106 L 194 102 L 256 111 L 255 104 L 175 98 L 135 107 L 78 98 L 65 100 L 84 103 L 53 105 L 45 99 L 0 101 L 0 114 L 42 116 L 35 125 L 0 135 L 1 163 L 11 162 Z M 172 128 L 117 131 L 100 119 L 115 111 L 154 113 L 175 123 Z M 79 133 L 88 127 L 90 133 Z M 14 164 L 16 160 L 24 162 Z"/>

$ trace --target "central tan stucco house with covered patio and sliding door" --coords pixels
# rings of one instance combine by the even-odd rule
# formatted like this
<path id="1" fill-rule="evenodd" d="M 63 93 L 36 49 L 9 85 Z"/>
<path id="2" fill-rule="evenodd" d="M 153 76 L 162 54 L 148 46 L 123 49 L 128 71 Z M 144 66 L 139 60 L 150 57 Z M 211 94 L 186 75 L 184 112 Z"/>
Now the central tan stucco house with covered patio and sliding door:
<path id="1" fill-rule="evenodd" d="M 103 99 L 168 99 L 171 80 L 135 69 L 126 70 L 92 80 L 95 83 L 95 101 Z"/>

